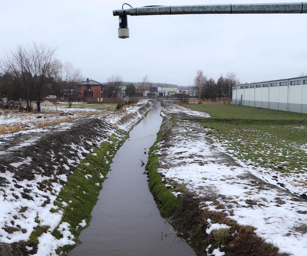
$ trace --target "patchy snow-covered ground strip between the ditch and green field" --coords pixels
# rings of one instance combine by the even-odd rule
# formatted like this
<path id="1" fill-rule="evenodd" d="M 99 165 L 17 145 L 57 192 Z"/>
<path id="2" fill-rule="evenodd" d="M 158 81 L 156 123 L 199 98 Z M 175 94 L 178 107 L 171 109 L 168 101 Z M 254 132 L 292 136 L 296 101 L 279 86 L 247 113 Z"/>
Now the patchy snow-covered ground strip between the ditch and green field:
<path id="1" fill-rule="evenodd" d="M 168 106 L 164 112 L 175 113 L 175 116 L 190 111 L 181 112 L 182 106 Z M 197 116 L 195 112 L 193 115 Z M 199 116 L 203 117 L 204 113 Z M 161 168 L 158 172 L 200 197 L 214 198 L 215 202 L 213 199 L 204 201 L 204 207 L 225 211 L 239 224 L 254 226 L 255 233 L 276 245 L 280 252 L 304 255 L 307 250 L 306 200 L 274 186 L 276 181 L 271 180 L 272 174 L 269 178 L 269 174 L 230 158 L 223 153 L 222 145 L 209 139 L 206 132 L 207 129 L 196 122 L 177 119 L 170 141 L 159 144 Z"/>

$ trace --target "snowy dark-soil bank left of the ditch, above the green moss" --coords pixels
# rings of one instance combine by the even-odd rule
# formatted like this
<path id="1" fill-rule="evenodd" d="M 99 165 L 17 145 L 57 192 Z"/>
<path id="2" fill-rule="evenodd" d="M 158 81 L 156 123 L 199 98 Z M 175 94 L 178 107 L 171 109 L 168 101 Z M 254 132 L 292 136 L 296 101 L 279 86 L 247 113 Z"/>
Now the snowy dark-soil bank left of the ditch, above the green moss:
<path id="1" fill-rule="evenodd" d="M 108 115 L 97 114 L 82 119 L 82 122 L 93 123 L 91 129 L 96 131 L 95 134 L 92 134 L 90 138 L 75 134 L 78 142 L 65 143 L 61 145 L 62 149 L 57 152 L 52 149 L 57 141 L 50 141 L 50 148 L 42 149 L 44 157 L 41 157 L 41 153 L 34 154 L 35 160 L 34 156 L 32 156 L 33 152 L 29 152 L 32 157 L 20 157 L 19 155 L 24 155 L 27 147 L 36 145 L 39 148 L 39 142 L 42 138 L 45 138 L 46 134 L 47 136 L 50 134 L 48 138 L 53 138 L 53 134 L 62 134 L 64 131 L 73 129 L 79 121 L 62 123 L 53 127 L 19 131 L 2 137 L 0 139 L 0 147 L 2 147 L 0 151 L 0 243 L 11 244 L 27 241 L 33 228 L 38 224 L 36 219 L 40 220 L 40 226 L 50 226 L 48 231 L 52 231 L 57 227 L 61 221 L 62 212 L 51 213 L 50 210 L 54 207 L 53 202 L 63 184 L 67 181 L 65 172 L 73 173 L 74 168 L 85 158 L 87 153 L 93 150 L 95 145 L 107 140 L 119 128 L 129 131 L 143 117 L 144 110 L 140 111 L 140 109 L 145 108 L 146 111 L 152 105 L 151 101 L 142 100 L 127 109 L 109 112 Z M 95 118 L 101 119 L 102 125 L 98 126 L 96 124 L 95 126 L 95 123 L 97 123 Z M 19 154 L 18 152 L 21 153 Z M 14 155 L 16 155 L 15 158 Z M 9 156 L 10 158 L 8 158 Z M 34 163 L 40 162 L 38 160 L 40 157 L 45 162 L 38 166 Z M 7 162 L 7 159 L 11 158 L 14 158 L 14 160 Z M 51 162 L 52 166 L 46 164 L 46 159 L 48 163 Z M 4 161 L 2 160 L 6 160 L 7 163 L 3 164 Z M 51 175 L 50 169 L 53 173 Z M 65 170 L 64 173 L 63 170 Z M 23 172 L 28 176 L 23 178 Z M 50 189 L 40 189 L 40 184 L 43 182 L 48 183 Z M 82 226 L 85 223 L 80 223 L 79 225 Z M 39 237 L 40 243 L 37 256 L 56 255 L 55 250 L 57 247 L 74 244 L 74 237 L 70 233 L 67 223 L 62 223 L 58 230 L 63 235 L 63 238 L 59 240 L 55 239 L 50 232 Z"/>

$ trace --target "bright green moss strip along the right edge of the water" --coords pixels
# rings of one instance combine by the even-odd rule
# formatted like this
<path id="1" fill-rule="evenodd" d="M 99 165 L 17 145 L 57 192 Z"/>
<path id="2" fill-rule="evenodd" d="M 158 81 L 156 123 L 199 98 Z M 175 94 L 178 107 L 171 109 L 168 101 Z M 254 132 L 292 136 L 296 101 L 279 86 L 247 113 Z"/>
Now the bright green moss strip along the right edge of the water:
<path id="1" fill-rule="evenodd" d="M 160 214 L 163 218 L 169 216 L 179 205 L 179 201 L 172 194 L 162 182 L 162 177 L 158 173 L 158 145 L 162 139 L 162 133 L 157 134 L 157 140 L 153 146 L 150 147 L 148 153 L 148 162 L 146 164 L 146 171 L 148 171 L 148 186 L 154 198 L 158 199 L 162 206 L 159 208 Z"/>

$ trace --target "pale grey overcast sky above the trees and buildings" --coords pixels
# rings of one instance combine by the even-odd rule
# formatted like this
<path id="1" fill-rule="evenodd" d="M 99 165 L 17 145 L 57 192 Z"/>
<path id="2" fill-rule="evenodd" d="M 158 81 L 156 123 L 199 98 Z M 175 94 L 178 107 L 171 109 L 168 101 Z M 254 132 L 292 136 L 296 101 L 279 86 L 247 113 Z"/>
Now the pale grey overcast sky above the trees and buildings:
<path id="1" fill-rule="evenodd" d="M 130 38 L 119 39 L 112 10 L 126 1 L 1 1 L 0 56 L 20 43 L 48 44 L 58 59 L 99 82 L 112 74 L 141 81 L 147 74 L 152 82 L 185 86 L 202 69 L 215 80 L 233 71 L 243 83 L 307 71 L 307 14 L 128 16 Z M 128 1 L 133 7 L 229 2 L 282 1 Z"/>

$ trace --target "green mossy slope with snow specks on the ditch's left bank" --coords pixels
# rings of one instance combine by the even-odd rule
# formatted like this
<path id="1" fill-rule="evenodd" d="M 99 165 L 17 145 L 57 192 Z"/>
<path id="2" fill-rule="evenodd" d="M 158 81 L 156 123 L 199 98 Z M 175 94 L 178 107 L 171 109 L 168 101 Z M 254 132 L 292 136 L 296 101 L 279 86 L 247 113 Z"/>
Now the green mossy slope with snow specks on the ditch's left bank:
<path id="1" fill-rule="evenodd" d="M 51 212 L 63 212 L 63 214 L 60 223 L 51 234 L 57 239 L 62 238 L 63 235 L 59 226 L 61 223 L 67 222 L 70 224 L 69 231 L 74 235 L 76 242 L 74 245 L 65 245 L 58 248 L 58 255 L 60 255 L 60 252 L 65 254 L 81 243 L 78 236 L 90 224 L 91 211 L 98 200 L 99 191 L 102 189 L 102 183 L 110 169 L 112 158 L 128 137 L 128 133 L 118 130 L 107 141 L 101 143 L 99 148 L 95 147 L 94 151 L 87 154 L 86 158 L 78 164 L 74 173 L 58 194 L 54 201 L 55 207 L 51 209 Z M 109 152 L 109 155 L 107 152 Z M 79 224 L 84 219 L 86 226 L 82 227 Z M 38 244 L 38 237 L 47 233 L 48 228 L 50 228 L 39 225 L 40 220 L 36 220 L 36 222 L 38 225 L 29 239 L 29 242 L 33 244 Z"/>

